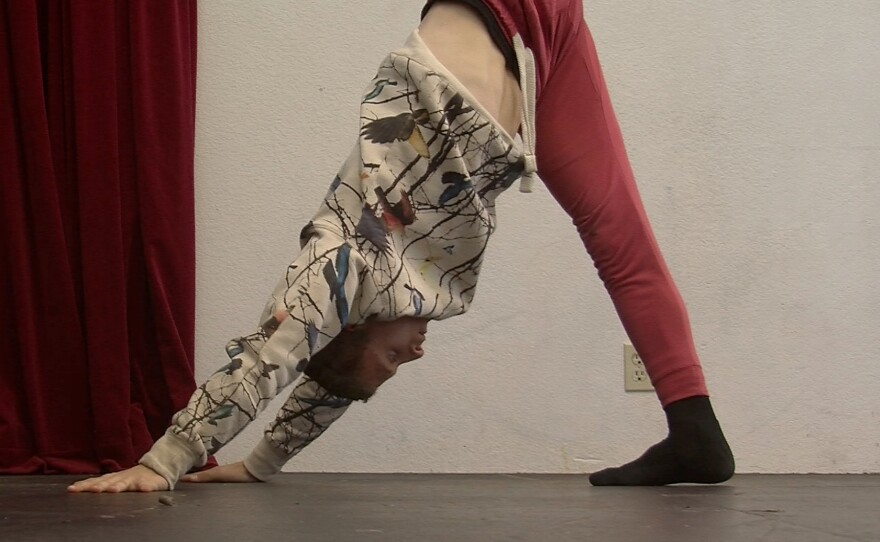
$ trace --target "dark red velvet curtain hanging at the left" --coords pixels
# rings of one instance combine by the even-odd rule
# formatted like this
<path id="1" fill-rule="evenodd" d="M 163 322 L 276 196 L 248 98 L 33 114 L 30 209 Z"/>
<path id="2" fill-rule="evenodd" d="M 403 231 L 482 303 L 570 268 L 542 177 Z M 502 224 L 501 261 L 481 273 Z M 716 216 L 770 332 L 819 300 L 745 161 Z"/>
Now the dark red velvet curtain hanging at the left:
<path id="1" fill-rule="evenodd" d="M 131 466 L 195 388 L 195 0 L 0 0 L 0 473 Z"/>

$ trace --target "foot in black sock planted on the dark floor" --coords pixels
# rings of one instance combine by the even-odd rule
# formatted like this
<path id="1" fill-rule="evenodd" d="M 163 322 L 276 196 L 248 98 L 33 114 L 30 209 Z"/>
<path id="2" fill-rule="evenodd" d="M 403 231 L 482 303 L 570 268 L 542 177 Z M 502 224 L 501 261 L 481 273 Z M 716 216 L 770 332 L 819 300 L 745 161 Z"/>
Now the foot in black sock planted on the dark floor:
<path id="1" fill-rule="evenodd" d="M 626 465 L 590 475 L 594 486 L 717 484 L 733 476 L 730 446 L 708 397 L 690 397 L 666 407 L 669 436 Z"/>

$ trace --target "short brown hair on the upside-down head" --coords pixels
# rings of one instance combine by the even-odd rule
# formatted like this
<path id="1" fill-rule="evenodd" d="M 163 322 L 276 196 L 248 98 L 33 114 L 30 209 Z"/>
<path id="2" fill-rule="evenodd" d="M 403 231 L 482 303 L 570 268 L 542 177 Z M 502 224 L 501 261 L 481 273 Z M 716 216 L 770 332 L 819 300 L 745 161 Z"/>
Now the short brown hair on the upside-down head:
<path id="1" fill-rule="evenodd" d="M 312 355 L 305 374 L 338 397 L 366 401 L 373 394 L 357 379 L 364 345 L 369 337 L 365 326 L 342 330 L 327 346 Z"/>

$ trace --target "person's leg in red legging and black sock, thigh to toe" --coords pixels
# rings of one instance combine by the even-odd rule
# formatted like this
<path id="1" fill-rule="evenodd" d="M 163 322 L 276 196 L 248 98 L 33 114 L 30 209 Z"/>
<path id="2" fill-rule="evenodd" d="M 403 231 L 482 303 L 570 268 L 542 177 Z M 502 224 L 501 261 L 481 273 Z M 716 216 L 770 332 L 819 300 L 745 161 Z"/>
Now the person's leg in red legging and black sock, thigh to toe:
<path id="1" fill-rule="evenodd" d="M 541 178 L 573 218 L 627 334 L 645 360 L 669 437 L 596 485 L 715 483 L 733 456 L 712 412 L 684 303 L 645 214 L 583 21 L 538 108 Z"/>

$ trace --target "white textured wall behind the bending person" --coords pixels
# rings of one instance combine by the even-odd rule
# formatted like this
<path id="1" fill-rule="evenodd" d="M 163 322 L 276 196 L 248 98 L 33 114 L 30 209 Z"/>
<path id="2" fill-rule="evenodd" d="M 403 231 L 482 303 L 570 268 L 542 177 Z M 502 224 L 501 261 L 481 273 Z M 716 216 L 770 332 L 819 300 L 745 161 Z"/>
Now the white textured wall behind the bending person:
<path id="1" fill-rule="evenodd" d="M 254 329 L 417 24 L 419 2 L 369 4 L 200 2 L 199 378 Z M 880 2 L 586 13 L 738 470 L 880 471 Z M 544 190 L 499 204 L 474 310 L 289 469 L 588 472 L 664 435 L 656 399 L 622 390 L 625 334 L 564 213 Z M 553 276 L 530 264 L 551 256 Z"/>

